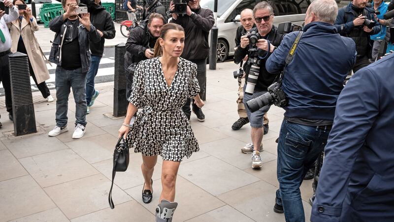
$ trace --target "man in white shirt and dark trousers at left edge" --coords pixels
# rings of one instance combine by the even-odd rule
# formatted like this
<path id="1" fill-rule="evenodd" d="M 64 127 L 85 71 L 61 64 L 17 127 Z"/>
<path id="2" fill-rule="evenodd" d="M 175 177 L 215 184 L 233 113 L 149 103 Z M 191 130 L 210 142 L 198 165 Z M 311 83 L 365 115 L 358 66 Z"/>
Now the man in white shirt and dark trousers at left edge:
<path id="1" fill-rule="evenodd" d="M 7 24 L 19 17 L 18 8 L 11 0 L 3 0 L 4 6 L 9 8 L 8 14 L 0 10 L 0 81 L 3 83 L 5 94 L 5 106 L 9 112 L 8 117 L 12 121 L 11 86 L 9 81 L 8 54 L 11 53 L 11 36 Z M 1 123 L 0 123 L 1 127 Z"/>

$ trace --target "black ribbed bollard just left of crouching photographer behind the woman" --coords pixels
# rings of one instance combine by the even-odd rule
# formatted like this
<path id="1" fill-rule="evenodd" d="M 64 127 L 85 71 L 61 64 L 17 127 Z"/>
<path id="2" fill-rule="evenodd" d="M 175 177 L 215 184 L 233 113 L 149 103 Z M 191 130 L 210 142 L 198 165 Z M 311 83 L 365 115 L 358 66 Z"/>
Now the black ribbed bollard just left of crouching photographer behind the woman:
<path id="1" fill-rule="evenodd" d="M 126 98 L 125 75 L 125 43 L 115 46 L 115 73 L 114 73 L 114 113 L 115 117 L 124 116 L 129 105 Z"/>

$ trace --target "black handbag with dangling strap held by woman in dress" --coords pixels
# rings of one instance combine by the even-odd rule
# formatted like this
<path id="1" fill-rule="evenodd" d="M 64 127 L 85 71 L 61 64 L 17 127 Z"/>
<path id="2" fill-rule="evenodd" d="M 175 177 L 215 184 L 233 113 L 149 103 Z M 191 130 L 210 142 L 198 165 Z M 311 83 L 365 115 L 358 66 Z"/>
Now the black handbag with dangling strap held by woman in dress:
<path id="1" fill-rule="evenodd" d="M 130 161 L 130 153 L 129 147 L 127 146 L 127 142 L 123 139 L 123 135 L 119 138 L 118 143 L 115 146 L 114 150 L 114 167 L 112 169 L 112 184 L 111 189 L 109 189 L 108 194 L 108 203 L 111 209 L 115 208 L 114 202 L 112 201 L 112 187 L 114 185 L 114 179 L 116 172 L 125 172 L 127 167 L 129 166 Z"/>

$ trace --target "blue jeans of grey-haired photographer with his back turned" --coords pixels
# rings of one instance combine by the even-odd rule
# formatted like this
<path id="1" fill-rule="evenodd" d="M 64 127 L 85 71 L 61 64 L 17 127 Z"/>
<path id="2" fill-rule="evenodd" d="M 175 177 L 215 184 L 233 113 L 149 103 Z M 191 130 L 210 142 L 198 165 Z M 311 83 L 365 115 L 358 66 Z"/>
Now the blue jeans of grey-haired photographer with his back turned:
<path id="1" fill-rule="evenodd" d="M 283 206 L 286 222 L 304 222 L 301 185 L 327 144 L 325 127 L 306 126 L 283 120 L 278 141 L 276 203 Z"/>

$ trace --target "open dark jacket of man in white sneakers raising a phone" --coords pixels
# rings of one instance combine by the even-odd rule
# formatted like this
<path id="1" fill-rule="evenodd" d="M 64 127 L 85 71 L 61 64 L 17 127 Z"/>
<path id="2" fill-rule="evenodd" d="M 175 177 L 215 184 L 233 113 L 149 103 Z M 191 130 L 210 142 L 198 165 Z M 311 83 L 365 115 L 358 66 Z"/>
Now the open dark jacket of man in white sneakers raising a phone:
<path id="1" fill-rule="evenodd" d="M 55 32 L 55 39 L 52 42 L 49 61 L 58 66 L 62 66 L 62 46 L 64 35 L 66 33 L 66 24 L 63 15 L 60 15 L 49 22 L 49 29 Z M 78 27 L 79 54 L 81 56 L 82 72 L 88 72 L 91 63 L 91 53 L 89 49 L 89 40 L 99 42 L 101 37 L 96 32 L 96 28 L 91 25 L 88 32 L 82 24 Z"/>

